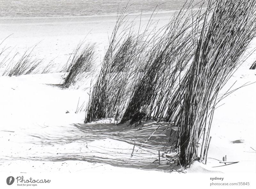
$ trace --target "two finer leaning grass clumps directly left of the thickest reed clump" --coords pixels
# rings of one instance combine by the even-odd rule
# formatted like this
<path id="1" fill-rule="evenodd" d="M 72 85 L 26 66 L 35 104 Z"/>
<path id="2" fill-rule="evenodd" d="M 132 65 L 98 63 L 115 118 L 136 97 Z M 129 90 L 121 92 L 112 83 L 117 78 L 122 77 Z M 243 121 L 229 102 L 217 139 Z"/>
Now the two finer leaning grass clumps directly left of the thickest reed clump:
<path id="1" fill-rule="evenodd" d="M 190 11 L 191 4 L 184 5 L 158 30 L 149 20 L 145 30 L 137 34 L 130 25 L 125 25 L 124 12 L 119 15 L 90 95 L 86 122 L 106 117 L 115 117 L 117 123 L 131 119 L 134 122 L 140 118 L 139 110 L 148 105 L 152 105 L 150 112 L 156 112 L 155 119 L 163 114 L 164 110 L 158 110 L 164 109 L 160 107 L 160 98 L 167 100 L 168 91 L 159 97 L 160 91 L 168 82 L 175 83 L 177 73 L 186 67 L 193 54 Z M 118 33 L 122 25 L 124 29 Z M 168 90 L 170 93 L 171 89 Z"/>

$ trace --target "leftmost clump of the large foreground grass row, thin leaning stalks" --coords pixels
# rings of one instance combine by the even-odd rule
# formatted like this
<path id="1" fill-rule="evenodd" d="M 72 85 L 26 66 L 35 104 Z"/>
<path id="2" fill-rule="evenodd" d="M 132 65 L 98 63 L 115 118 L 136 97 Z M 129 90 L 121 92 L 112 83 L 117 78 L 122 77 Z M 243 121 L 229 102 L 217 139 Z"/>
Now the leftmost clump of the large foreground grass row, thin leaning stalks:
<path id="1" fill-rule="evenodd" d="M 118 119 L 125 96 L 130 93 L 129 83 L 133 83 L 142 67 L 139 59 L 146 42 L 142 40 L 143 35 L 134 34 L 132 23 L 126 20 L 126 8 L 117 16 L 100 73 L 90 93 L 85 122 L 106 117 Z"/>

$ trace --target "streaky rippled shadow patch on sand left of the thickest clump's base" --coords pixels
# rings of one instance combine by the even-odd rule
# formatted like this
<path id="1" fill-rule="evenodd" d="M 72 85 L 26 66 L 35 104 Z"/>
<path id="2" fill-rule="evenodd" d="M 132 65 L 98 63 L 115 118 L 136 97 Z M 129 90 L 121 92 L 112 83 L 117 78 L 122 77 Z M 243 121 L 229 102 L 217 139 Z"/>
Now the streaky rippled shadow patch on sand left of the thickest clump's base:
<path id="1" fill-rule="evenodd" d="M 29 150 L 27 157 L 12 156 L 12 160 L 75 160 L 124 168 L 180 171 L 176 166 L 176 152 L 168 152 L 168 156 L 164 153 L 170 150 L 174 136 L 172 134 L 170 140 L 170 127 L 169 123 L 157 122 L 137 127 L 101 122 L 60 126 L 57 132 L 30 133 L 35 152 Z"/>

